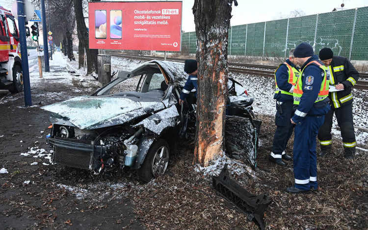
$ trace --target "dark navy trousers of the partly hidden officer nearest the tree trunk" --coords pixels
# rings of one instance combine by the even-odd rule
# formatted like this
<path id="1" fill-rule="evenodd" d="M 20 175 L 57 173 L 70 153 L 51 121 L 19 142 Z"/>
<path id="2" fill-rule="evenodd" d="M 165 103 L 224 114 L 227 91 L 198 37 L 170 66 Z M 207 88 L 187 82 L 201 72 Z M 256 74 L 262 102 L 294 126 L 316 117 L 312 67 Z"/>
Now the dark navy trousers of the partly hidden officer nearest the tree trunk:
<path id="1" fill-rule="evenodd" d="M 281 111 L 278 109 L 278 106 L 281 106 L 282 113 L 280 113 Z M 290 122 L 290 118 L 294 116 L 292 106 L 293 102 L 282 102 L 281 105 L 276 104 L 275 125 L 277 128 L 273 137 L 272 153 L 280 155 L 279 158 L 281 158 L 281 154 L 286 149 L 292 131 L 294 130 L 294 125 Z"/>

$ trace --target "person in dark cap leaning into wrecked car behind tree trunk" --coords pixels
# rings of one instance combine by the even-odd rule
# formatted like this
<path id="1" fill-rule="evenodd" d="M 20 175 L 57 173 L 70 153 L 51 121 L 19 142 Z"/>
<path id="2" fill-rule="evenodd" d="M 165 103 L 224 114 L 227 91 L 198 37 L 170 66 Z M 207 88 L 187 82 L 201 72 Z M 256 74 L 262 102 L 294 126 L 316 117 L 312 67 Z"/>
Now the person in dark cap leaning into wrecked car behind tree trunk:
<path id="1" fill-rule="evenodd" d="M 197 90 L 197 74 L 198 74 L 198 63 L 193 59 L 186 59 L 184 61 L 184 71 L 189 74 L 188 79 L 185 82 L 182 93 L 180 94 L 179 104 L 182 105 L 184 100 L 189 96 L 190 91 L 195 88 Z M 197 98 L 197 92 L 195 92 Z"/>

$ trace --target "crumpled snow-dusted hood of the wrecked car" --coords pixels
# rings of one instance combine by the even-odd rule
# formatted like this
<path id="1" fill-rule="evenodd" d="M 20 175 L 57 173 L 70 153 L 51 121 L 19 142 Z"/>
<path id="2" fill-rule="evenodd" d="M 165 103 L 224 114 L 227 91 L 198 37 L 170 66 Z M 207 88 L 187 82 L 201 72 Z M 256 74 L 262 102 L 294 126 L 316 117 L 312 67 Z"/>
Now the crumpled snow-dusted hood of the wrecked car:
<path id="1" fill-rule="evenodd" d="M 129 98 L 81 96 L 41 107 L 80 129 L 114 126 L 163 109 L 162 102 L 134 102 Z"/>

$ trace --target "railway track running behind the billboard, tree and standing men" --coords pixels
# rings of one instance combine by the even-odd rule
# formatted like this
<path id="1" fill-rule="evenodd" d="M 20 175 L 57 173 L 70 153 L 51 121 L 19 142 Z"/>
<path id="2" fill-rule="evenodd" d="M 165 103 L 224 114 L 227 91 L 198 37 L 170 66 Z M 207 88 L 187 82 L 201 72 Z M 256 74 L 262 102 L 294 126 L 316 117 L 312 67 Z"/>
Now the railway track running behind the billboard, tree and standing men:
<path id="1" fill-rule="evenodd" d="M 124 57 L 124 58 L 132 58 L 144 61 L 150 60 L 163 60 L 163 57 L 153 57 L 153 56 L 136 56 L 136 55 L 127 55 L 127 54 L 119 54 L 119 53 L 106 53 L 111 56 Z M 183 58 L 173 58 L 167 57 L 168 61 L 177 61 L 184 62 Z M 253 65 L 253 64 L 244 64 L 244 63 L 232 63 L 229 62 L 229 71 L 232 73 L 238 74 L 247 74 L 252 76 L 259 77 L 274 77 L 274 71 L 276 70 L 276 66 L 265 66 L 265 65 Z M 368 74 L 359 74 L 359 78 L 364 78 L 364 80 L 358 80 L 357 84 L 354 86 L 355 89 L 368 90 Z"/>

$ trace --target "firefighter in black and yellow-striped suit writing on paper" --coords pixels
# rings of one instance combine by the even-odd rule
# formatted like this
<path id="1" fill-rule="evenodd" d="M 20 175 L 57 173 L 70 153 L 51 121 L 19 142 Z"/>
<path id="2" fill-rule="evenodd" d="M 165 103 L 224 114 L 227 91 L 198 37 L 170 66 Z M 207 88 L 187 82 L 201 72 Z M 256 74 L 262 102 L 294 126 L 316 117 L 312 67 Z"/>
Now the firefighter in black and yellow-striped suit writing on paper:
<path id="1" fill-rule="evenodd" d="M 337 90 L 341 90 L 328 94 L 331 110 L 327 113 L 323 125 L 318 130 L 318 141 L 321 146 L 319 156 L 331 152 L 332 117 L 335 113 L 341 129 L 345 159 L 354 159 L 356 141 L 351 88 L 357 83 L 359 73 L 346 57 L 334 56 L 330 48 L 323 48 L 319 51 L 319 59 L 330 71 L 330 84 L 334 85 Z"/>

